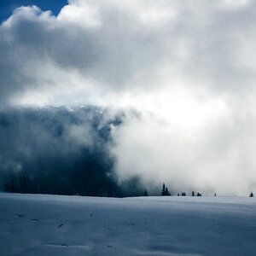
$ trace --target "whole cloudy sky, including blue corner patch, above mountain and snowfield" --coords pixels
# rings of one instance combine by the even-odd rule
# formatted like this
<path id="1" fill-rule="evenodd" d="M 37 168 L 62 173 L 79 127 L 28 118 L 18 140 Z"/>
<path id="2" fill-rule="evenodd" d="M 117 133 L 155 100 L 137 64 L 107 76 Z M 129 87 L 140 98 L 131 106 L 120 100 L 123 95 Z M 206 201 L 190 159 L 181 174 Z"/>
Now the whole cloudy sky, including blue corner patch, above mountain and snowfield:
<path id="1" fill-rule="evenodd" d="M 120 182 L 256 189 L 254 1 L 20 4 L 0 5 L 0 108 L 122 110 Z"/>

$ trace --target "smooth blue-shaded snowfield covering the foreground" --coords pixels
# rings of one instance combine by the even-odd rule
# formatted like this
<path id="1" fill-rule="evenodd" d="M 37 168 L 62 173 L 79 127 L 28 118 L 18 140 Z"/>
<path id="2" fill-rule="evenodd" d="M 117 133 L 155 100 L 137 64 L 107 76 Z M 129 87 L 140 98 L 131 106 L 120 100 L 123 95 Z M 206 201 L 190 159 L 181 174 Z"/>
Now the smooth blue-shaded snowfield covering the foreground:
<path id="1" fill-rule="evenodd" d="M 1 193 L 0 255 L 256 255 L 256 200 Z"/>

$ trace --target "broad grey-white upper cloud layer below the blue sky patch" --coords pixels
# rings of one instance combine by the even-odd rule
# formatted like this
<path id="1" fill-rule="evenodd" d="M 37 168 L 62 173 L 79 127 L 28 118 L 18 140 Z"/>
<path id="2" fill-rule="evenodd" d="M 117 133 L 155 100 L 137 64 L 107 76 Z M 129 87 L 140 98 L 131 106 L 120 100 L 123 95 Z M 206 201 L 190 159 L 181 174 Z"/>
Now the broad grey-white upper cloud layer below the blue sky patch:
<path id="1" fill-rule="evenodd" d="M 217 94 L 243 90 L 245 80 L 253 87 L 255 11 L 239 3 L 84 0 L 58 16 L 16 9 L 0 29 L 2 100 L 37 104 L 39 91 L 53 104 L 68 90 L 69 104 L 108 102 L 116 91 L 133 97 L 177 83 Z"/>

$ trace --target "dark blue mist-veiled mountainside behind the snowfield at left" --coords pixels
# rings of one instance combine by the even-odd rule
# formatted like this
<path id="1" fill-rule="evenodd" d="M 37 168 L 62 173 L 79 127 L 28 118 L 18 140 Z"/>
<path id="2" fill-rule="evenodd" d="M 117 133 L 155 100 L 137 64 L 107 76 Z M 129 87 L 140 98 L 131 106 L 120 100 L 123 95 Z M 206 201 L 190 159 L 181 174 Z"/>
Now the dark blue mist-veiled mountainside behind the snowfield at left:
<path id="1" fill-rule="evenodd" d="M 0 111 L 0 177 L 26 174 L 44 193 L 120 195 L 108 154 L 109 123 L 98 108 Z M 43 189 L 41 189 L 43 187 Z"/>

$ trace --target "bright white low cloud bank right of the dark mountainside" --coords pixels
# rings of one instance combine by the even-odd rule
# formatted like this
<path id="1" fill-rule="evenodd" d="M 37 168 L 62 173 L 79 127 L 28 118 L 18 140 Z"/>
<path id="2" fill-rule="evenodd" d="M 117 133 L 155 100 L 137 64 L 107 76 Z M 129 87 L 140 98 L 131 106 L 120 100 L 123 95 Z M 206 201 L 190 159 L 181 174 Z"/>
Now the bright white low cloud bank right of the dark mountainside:
<path id="1" fill-rule="evenodd" d="M 246 123 L 243 123 L 246 121 Z M 144 184 L 168 183 L 172 191 L 247 195 L 255 188 L 255 121 L 223 113 L 196 129 L 148 117 L 113 129 L 119 181 L 135 175 Z"/>

